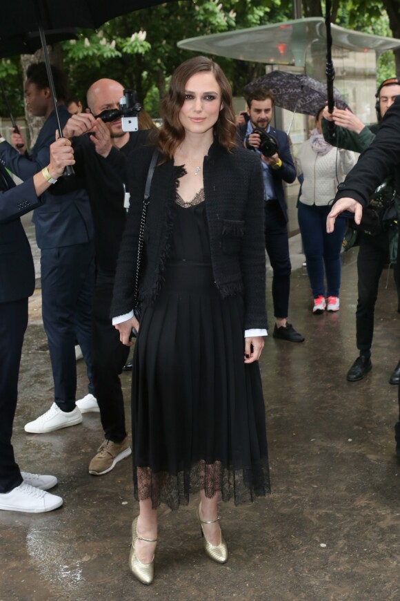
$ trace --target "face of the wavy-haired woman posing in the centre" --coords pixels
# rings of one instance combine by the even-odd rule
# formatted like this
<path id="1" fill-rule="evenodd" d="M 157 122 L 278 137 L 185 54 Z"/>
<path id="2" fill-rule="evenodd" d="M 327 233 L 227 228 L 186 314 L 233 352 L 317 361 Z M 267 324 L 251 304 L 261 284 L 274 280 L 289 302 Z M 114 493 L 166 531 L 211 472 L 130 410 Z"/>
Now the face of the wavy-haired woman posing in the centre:
<path id="1" fill-rule="evenodd" d="M 196 73 L 186 82 L 179 121 L 186 133 L 203 134 L 212 131 L 221 108 L 221 88 L 217 79 L 210 71 Z"/>

